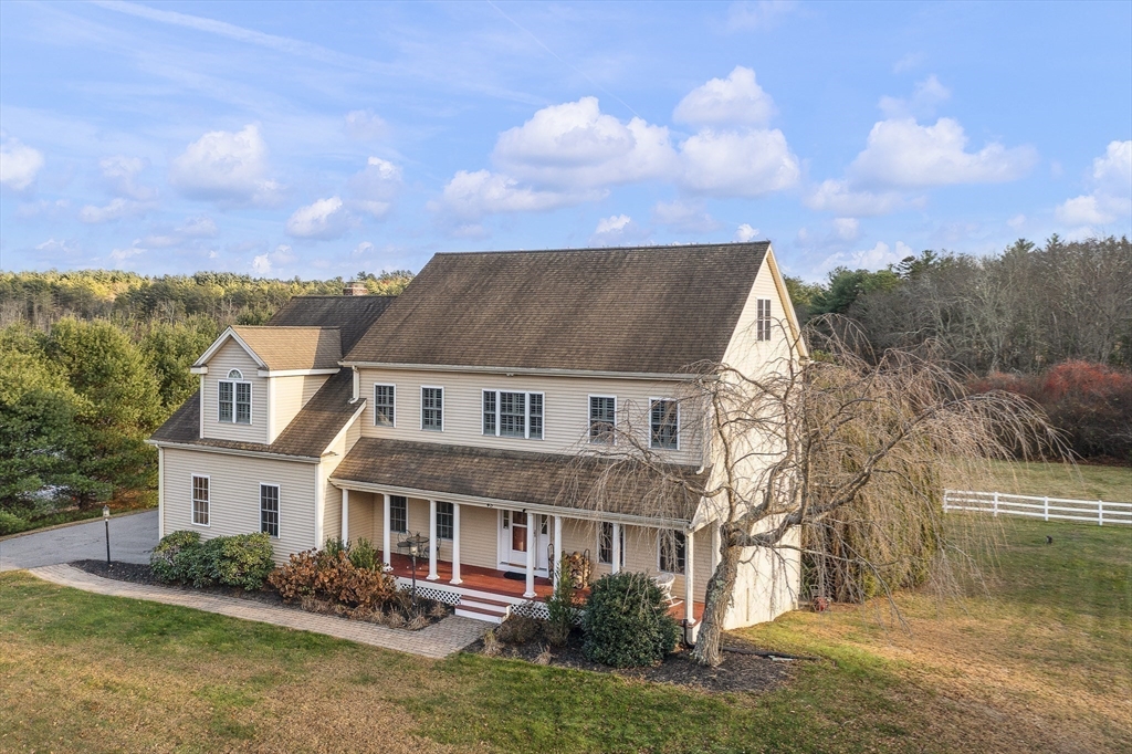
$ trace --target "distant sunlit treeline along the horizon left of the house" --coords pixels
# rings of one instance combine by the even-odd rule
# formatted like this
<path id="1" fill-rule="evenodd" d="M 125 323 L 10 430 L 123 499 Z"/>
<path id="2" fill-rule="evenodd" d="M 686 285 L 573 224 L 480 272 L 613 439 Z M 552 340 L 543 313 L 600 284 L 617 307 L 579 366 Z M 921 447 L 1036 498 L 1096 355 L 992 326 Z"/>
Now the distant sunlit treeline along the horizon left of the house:
<path id="1" fill-rule="evenodd" d="M 408 269 L 361 272 L 371 294 L 400 293 Z M 338 295 L 344 281 L 265 280 L 234 273 L 149 277 L 130 272 L 0 272 L 0 326 L 24 322 L 44 328 L 63 317 L 119 323 L 179 323 L 205 318 L 226 326 L 265 322 L 293 295 Z"/>

